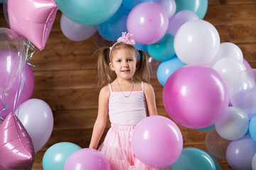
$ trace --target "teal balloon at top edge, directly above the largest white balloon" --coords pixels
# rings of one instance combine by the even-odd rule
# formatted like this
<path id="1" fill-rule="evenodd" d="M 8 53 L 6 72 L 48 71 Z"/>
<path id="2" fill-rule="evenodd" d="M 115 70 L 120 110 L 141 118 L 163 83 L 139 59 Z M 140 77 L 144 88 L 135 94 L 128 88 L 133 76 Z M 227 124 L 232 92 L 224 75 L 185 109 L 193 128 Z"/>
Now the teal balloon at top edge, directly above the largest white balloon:
<path id="1" fill-rule="evenodd" d="M 183 10 L 193 11 L 199 19 L 206 16 L 208 0 L 175 0 L 176 13 Z"/>

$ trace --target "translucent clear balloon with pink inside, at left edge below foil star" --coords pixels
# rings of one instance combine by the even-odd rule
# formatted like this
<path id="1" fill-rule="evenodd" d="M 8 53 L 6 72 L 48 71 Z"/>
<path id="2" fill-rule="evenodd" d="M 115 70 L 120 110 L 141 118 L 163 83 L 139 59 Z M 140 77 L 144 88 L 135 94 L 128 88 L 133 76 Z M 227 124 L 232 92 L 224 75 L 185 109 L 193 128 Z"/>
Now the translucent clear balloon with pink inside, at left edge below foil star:
<path id="1" fill-rule="evenodd" d="M 0 28 L 0 93 L 7 91 L 18 79 L 26 62 L 23 42 L 8 28 Z"/>

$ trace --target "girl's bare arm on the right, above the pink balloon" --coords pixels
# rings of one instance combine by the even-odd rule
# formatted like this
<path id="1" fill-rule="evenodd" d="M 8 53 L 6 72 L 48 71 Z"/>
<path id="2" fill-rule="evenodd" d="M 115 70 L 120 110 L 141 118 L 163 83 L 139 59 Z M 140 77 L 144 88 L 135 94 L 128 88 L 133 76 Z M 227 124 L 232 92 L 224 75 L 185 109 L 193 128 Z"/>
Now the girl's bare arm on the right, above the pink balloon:
<path id="1" fill-rule="evenodd" d="M 144 83 L 144 93 L 146 96 L 146 105 L 149 115 L 157 115 L 156 111 L 156 97 L 154 94 L 154 89 L 151 84 Z"/>

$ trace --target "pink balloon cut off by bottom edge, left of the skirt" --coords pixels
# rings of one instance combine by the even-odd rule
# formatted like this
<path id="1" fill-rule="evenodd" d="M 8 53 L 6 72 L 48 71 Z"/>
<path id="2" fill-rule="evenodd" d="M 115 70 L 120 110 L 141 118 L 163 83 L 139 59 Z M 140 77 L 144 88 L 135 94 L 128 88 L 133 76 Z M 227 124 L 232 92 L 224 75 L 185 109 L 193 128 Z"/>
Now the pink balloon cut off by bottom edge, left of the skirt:
<path id="1" fill-rule="evenodd" d="M 110 170 L 110 163 L 100 151 L 96 149 L 79 149 L 68 157 L 64 170 Z"/>

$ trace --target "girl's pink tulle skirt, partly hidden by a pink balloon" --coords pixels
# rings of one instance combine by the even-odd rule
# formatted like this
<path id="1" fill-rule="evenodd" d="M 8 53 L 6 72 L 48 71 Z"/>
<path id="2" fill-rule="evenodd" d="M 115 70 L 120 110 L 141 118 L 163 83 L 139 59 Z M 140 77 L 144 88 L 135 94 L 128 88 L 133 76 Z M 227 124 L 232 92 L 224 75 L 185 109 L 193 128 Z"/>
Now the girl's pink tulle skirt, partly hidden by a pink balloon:
<path id="1" fill-rule="evenodd" d="M 132 152 L 132 132 L 136 125 L 111 125 L 99 150 L 110 162 L 111 170 L 156 170 L 139 162 Z"/>

